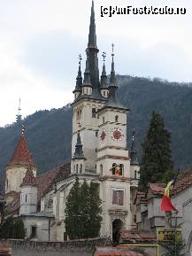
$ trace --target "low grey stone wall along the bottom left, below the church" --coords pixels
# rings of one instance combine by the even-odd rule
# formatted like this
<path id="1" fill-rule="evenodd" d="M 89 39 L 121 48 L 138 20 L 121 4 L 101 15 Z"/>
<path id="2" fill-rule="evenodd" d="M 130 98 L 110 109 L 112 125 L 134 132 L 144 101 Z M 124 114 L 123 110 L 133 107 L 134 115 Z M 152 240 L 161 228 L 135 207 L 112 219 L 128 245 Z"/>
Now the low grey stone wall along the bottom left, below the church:
<path id="1" fill-rule="evenodd" d="M 10 244 L 12 256 L 92 256 L 96 246 L 111 242 L 107 238 L 96 238 L 66 242 L 1 240 L 0 244 Z"/>

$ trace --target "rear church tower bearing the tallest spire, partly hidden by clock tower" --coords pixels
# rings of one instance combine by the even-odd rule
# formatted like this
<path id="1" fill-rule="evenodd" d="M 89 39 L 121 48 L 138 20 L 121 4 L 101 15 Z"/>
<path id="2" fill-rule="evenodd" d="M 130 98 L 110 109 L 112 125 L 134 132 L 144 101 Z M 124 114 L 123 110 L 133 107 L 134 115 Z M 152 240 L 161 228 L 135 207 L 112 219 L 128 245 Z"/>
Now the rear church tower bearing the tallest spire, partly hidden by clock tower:
<path id="1" fill-rule="evenodd" d="M 72 136 L 72 156 L 75 152 L 75 144 L 77 142 L 78 132 L 81 136 L 81 144 L 83 145 L 85 160 L 85 172 L 96 175 L 96 148 L 97 148 L 97 132 L 98 132 L 98 116 L 97 111 L 101 109 L 106 97 L 102 96 L 100 91 L 99 69 L 98 69 L 98 49 L 96 46 L 96 23 L 94 2 L 92 2 L 88 48 L 86 50 L 86 68 L 84 79 L 81 78 L 81 57 L 80 66 L 76 82 L 73 90 L 74 101 L 73 107 L 73 136 Z M 81 130 L 79 125 L 81 123 Z"/>

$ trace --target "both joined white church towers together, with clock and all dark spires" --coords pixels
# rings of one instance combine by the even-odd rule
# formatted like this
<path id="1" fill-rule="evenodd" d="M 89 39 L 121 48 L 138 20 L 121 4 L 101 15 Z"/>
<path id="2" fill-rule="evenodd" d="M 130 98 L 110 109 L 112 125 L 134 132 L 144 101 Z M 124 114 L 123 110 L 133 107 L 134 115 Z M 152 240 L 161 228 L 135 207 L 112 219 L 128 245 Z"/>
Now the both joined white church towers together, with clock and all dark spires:
<path id="1" fill-rule="evenodd" d="M 119 102 L 112 44 L 111 76 L 98 69 L 96 24 L 92 2 L 86 67 L 81 77 L 81 56 L 73 90 L 72 174 L 94 179 L 102 200 L 101 237 L 116 241 L 120 229 L 130 229 L 131 177 L 127 150 L 127 112 Z M 105 60 L 105 53 L 103 52 Z M 81 170 L 81 171 L 80 171 Z"/>

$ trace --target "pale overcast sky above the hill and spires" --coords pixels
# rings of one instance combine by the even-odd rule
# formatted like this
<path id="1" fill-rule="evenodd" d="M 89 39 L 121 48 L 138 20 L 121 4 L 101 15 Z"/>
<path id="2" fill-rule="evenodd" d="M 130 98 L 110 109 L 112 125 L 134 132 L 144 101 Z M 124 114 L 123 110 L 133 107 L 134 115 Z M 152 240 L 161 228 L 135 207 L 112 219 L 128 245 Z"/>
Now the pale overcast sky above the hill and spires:
<path id="1" fill-rule="evenodd" d="M 101 6 L 185 7 L 185 15 L 101 17 Z M 0 0 L 0 126 L 73 101 L 88 43 L 91 0 Z M 118 74 L 192 81 L 191 0 L 96 0 L 96 35 L 110 73 L 111 43 Z"/>

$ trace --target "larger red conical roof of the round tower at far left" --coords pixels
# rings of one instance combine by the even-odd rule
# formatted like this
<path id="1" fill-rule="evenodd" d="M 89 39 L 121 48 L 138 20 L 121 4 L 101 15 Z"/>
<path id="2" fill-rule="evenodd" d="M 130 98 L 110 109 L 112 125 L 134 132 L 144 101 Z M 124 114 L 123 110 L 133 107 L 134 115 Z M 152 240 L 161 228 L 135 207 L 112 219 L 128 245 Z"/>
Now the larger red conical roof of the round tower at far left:
<path id="1" fill-rule="evenodd" d="M 12 159 L 10 160 L 8 166 L 35 166 L 32 154 L 28 150 L 27 140 L 24 135 L 19 138 L 19 143 L 17 144 L 15 151 L 13 153 Z"/>

